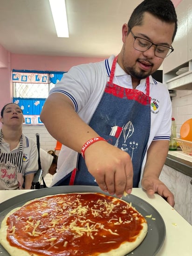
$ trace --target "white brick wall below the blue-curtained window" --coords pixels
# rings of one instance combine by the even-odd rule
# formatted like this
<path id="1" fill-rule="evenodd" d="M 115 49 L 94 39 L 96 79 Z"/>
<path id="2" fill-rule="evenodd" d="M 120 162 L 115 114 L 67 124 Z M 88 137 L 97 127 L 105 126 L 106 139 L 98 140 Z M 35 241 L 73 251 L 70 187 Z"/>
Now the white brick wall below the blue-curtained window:
<path id="1" fill-rule="evenodd" d="M 40 146 L 45 151 L 55 149 L 56 140 L 47 131 L 44 125 L 23 125 L 23 133 L 36 142 L 36 133 L 40 136 Z"/>

